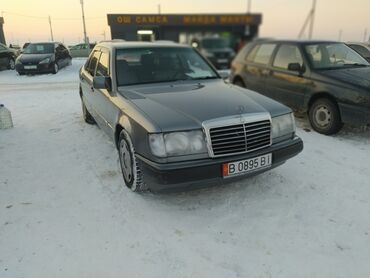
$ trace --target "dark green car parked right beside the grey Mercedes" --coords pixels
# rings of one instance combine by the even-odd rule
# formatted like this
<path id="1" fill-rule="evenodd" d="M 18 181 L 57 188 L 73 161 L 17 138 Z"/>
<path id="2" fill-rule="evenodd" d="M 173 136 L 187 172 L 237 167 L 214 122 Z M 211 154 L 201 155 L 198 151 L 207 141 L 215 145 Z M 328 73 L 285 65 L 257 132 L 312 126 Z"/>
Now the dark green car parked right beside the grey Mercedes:
<path id="1" fill-rule="evenodd" d="M 252 42 L 232 62 L 230 80 L 308 112 L 319 133 L 370 123 L 370 65 L 343 43 Z"/>

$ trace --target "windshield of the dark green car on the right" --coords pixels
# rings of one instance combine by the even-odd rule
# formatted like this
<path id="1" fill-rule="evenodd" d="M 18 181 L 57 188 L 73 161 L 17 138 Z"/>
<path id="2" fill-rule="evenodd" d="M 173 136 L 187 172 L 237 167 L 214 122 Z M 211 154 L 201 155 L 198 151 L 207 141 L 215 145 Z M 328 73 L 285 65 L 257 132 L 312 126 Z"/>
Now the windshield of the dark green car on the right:
<path id="1" fill-rule="evenodd" d="M 315 69 L 369 65 L 356 51 L 343 43 L 308 44 L 305 51 Z"/>

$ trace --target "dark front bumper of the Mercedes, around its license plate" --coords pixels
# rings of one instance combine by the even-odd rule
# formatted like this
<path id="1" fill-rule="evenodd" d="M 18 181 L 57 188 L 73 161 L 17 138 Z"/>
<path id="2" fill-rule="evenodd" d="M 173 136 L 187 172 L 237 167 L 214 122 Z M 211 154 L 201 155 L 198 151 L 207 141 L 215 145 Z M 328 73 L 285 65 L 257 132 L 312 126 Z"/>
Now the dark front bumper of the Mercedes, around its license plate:
<path id="1" fill-rule="evenodd" d="M 210 185 L 219 185 L 256 175 L 283 164 L 287 159 L 297 155 L 303 150 L 303 142 L 299 137 L 293 140 L 275 144 L 269 148 L 255 152 L 221 158 L 208 158 L 175 163 L 156 163 L 139 155 L 137 162 L 143 171 L 144 182 L 154 191 L 167 191 L 185 188 L 201 188 Z M 254 158 L 272 153 L 272 164 L 267 169 L 257 170 L 242 176 L 222 177 L 222 164 Z"/>

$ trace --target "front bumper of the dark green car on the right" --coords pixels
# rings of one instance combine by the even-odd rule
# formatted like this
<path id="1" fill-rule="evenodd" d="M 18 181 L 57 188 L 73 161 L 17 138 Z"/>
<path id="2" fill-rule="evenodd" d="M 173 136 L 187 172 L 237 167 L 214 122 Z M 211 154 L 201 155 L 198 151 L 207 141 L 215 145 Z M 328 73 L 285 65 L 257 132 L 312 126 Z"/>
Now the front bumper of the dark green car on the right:
<path id="1" fill-rule="evenodd" d="M 342 122 L 354 125 L 370 124 L 370 108 L 360 105 L 339 103 Z"/>

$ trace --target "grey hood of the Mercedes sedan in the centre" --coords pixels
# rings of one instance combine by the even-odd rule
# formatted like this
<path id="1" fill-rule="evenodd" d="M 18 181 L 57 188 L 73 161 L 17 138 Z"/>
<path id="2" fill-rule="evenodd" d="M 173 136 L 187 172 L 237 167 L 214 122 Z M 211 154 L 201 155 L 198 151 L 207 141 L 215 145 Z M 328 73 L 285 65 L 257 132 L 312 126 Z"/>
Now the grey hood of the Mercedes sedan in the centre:
<path id="1" fill-rule="evenodd" d="M 290 112 L 272 99 L 221 80 L 122 88 L 121 94 L 163 132 L 198 129 L 204 121 L 227 116 L 261 112 L 277 116 Z"/>

